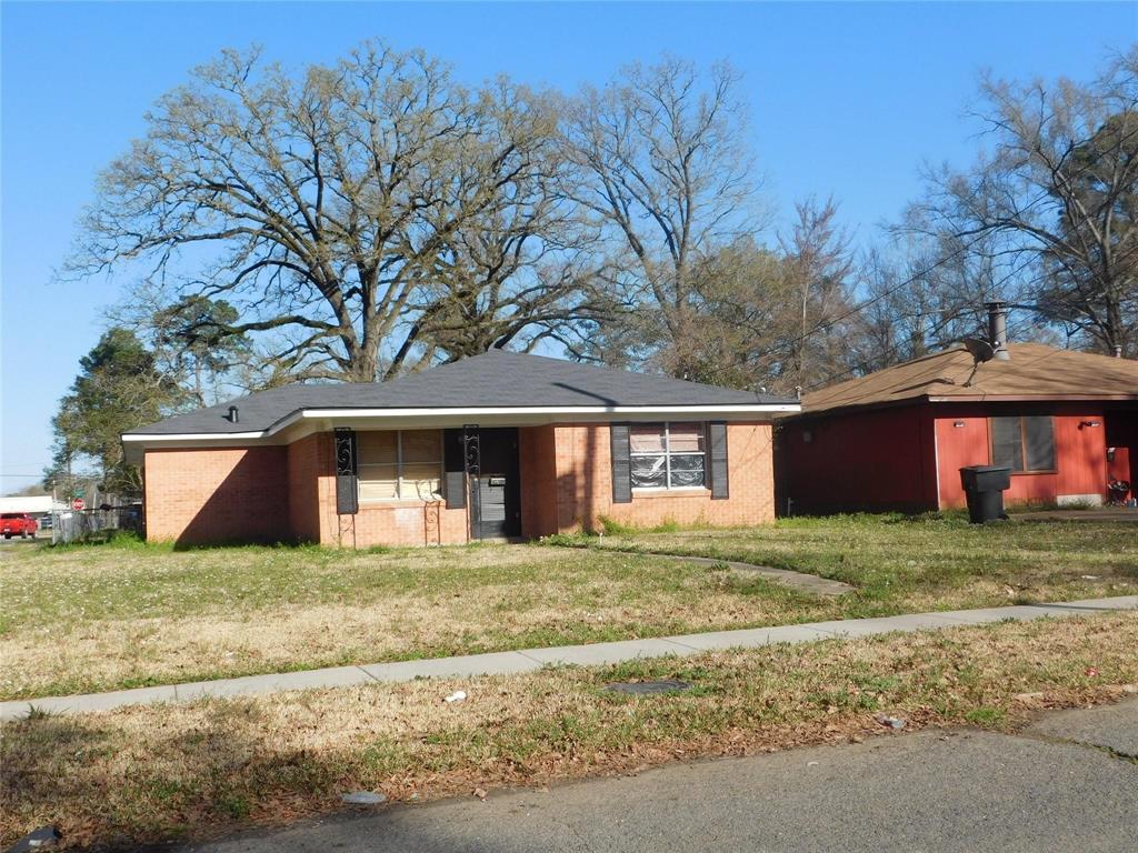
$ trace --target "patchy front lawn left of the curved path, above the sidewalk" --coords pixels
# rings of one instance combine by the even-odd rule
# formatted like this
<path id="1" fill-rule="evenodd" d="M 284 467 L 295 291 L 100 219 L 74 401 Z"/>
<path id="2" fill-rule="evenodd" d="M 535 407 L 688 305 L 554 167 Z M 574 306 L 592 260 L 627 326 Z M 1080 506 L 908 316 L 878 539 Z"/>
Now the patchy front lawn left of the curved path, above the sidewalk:
<path id="1" fill-rule="evenodd" d="M 3 580 L 6 698 L 836 615 L 707 566 L 536 546 L 71 550 Z"/>

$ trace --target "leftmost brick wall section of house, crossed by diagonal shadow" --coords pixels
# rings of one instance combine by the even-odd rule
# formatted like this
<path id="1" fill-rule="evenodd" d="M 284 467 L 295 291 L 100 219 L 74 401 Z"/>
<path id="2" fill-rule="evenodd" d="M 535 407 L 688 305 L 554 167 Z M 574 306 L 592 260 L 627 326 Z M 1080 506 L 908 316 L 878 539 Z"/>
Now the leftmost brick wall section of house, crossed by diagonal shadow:
<path id="1" fill-rule="evenodd" d="M 148 539 L 292 538 L 283 447 L 147 450 L 145 464 Z"/>

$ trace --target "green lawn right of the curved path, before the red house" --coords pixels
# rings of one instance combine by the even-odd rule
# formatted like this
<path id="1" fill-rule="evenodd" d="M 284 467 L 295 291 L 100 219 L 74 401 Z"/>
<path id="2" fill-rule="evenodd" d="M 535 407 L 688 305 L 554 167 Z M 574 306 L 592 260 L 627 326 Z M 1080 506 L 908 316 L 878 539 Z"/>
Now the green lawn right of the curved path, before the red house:
<path id="1" fill-rule="evenodd" d="M 1138 593 L 1138 524 L 960 515 L 783 519 L 766 527 L 612 531 L 564 541 L 793 569 L 852 585 L 846 618 Z"/>

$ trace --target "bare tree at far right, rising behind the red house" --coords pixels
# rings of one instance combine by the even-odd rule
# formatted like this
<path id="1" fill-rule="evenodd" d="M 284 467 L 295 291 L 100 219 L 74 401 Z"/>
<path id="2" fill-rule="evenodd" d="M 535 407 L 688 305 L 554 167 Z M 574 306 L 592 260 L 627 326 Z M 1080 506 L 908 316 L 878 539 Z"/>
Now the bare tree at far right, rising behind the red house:
<path id="1" fill-rule="evenodd" d="M 1085 346 L 1138 355 L 1138 47 L 1089 84 L 981 88 L 988 150 L 939 169 L 917 230 L 966 241 L 993 283 Z"/>

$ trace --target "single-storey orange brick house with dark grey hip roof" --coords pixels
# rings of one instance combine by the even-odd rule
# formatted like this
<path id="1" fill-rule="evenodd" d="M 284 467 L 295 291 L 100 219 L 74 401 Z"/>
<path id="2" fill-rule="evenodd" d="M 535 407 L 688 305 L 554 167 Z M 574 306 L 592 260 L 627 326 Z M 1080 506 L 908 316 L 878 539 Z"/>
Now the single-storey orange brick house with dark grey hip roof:
<path id="1" fill-rule="evenodd" d="M 146 535 L 443 545 L 774 519 L 797 400 L 494 350 L 376 384 L 296 384 L 123 436 Z"/>

